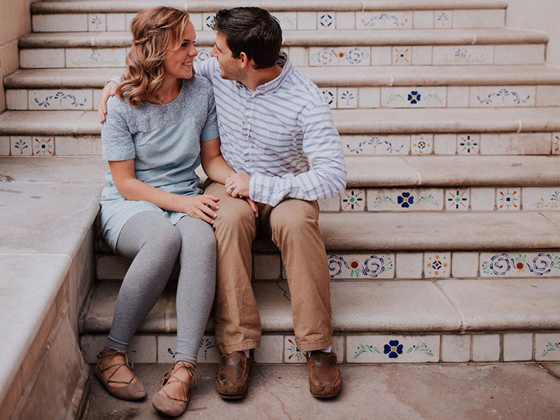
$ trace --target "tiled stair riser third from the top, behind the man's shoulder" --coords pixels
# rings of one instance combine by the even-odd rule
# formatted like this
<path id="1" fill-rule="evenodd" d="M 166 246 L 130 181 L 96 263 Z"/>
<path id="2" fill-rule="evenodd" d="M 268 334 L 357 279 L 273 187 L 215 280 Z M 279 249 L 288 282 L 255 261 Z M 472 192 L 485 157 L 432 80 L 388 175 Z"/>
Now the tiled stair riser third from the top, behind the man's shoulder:
<path id="1" fill-rule="evenodd" d="M 557 106 L 560 86 L 321 87 L 331 109 Z M 10 110 L 97 109 L 98 89 L 6 90 Z"/>

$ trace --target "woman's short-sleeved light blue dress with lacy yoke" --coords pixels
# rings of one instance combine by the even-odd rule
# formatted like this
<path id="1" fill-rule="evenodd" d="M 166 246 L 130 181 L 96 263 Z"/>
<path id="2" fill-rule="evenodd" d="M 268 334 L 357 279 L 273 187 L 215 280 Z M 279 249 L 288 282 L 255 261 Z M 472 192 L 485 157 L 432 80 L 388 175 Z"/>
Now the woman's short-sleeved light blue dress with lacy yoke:
<path id="1" fill-rule="evenodd" d="M 195 174 L 200 165 L 200 141 L 214 140 L 219 135 L 209 80 L 201 76 L 183 80 L 176 99 L 164 105 L 144 102 L 133 108 L 111 97 L 107 111 L 101 132 L 105 160 L 134 159 L 134 174 L 139 181 L 169 193 L 202 194 Z M 101 228 L 113 251 L 125 223 L 142 211 L 158 211 L 174 224 L 185 216 L 150 202 L 126 200 L 118 192 L 111 171 L 105 179 Z"/>

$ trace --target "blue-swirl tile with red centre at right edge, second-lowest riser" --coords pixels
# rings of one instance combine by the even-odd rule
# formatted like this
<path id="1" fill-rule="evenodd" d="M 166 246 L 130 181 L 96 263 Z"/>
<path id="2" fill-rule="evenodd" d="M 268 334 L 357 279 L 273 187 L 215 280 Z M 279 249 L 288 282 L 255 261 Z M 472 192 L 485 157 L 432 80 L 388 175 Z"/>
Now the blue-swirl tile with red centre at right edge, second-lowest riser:
<path id="1" fill-rule="evenodd" d="M 560 275 L 560 253 L 480 253 L 481 277 L 551 277 Z"/>

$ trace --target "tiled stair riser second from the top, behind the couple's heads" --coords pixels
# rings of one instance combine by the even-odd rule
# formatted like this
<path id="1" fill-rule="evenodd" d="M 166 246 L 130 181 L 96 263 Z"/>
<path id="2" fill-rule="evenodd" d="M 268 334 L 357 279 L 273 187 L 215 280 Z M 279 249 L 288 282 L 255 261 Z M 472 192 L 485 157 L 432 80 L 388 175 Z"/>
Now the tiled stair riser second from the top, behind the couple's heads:
<path id="1" fill-rule="evenodd" d="M 24 48 L 22 69 L 124 67 L 127 48 Z M 544 44 L 396 45 L 286 48 L 295 66 L 461 66 L 477 64 L 542 64 Z M 198 48 L 207 59 L 210 47 Z"/>

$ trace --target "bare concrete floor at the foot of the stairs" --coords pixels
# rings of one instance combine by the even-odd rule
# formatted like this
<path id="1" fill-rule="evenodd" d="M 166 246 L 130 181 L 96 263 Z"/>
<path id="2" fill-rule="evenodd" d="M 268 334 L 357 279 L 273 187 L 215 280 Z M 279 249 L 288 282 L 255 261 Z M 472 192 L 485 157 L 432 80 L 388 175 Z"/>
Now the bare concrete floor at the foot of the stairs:
<path id="1" fill-rule="evenodd" d="M 560 419 L 560 363 L 544 365 L 342 365 L 344 389 L 335 400 L 311 396 L 305 365 L 254 365 L 244 400 L 222 400 L 217 365 L 197 367 L 198 386 L 180 419 Z M 111 397 L 92 378 L 87 420 L 164 418 L 150 397 L 169 365 L 137 365 L 148 397 Z"/>

